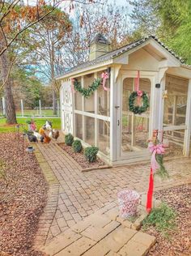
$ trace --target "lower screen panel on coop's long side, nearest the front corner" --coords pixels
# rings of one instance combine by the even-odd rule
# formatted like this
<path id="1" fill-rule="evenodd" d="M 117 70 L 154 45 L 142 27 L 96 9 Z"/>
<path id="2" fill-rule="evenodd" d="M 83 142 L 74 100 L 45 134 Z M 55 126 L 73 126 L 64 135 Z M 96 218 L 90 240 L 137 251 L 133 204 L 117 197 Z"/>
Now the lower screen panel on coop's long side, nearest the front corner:
<path id="1" fill-rule="evenodd" d="M 98 147 L 105 155 L 109 155 L 110 151 L 110 123 L 104 120 L 98 120 L 99 134 Z"/>

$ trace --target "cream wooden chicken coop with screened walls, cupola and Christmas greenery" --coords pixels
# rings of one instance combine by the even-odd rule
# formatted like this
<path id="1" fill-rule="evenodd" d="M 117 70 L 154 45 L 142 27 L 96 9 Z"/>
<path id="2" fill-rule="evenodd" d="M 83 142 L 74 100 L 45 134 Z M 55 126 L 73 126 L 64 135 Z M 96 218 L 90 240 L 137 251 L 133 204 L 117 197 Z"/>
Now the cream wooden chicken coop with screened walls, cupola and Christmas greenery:
<path id="1" fill-rule="evenodd" d="M 189 156 L 191 67 L 154 36 L 111 51 L 99 34 L 91 42 L 89 61 L 57 79 L 62 131 L 81 139 L 84 147 L 99 147 L 108 163 L 149 159 L 147 140 L 155 129 L 163 130 L 168 143 L 165 156 Z M 134 91 L 144 92 L 148 102 L 142 113 L 129 109 Z M 144 107 L 142 95 L 134 100 L 138 104 Z"/>

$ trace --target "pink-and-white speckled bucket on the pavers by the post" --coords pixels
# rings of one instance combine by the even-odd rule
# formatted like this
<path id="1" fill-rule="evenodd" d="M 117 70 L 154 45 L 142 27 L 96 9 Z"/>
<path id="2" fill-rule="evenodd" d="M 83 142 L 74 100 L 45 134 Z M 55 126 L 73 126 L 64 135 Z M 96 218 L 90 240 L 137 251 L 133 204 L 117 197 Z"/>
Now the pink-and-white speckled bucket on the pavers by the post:
<path id="1" fill-rule="evenodd" d="M 136 215 L 140 195 L 134 190 L 122 190 L 117 194 L 122 218 Z"/>

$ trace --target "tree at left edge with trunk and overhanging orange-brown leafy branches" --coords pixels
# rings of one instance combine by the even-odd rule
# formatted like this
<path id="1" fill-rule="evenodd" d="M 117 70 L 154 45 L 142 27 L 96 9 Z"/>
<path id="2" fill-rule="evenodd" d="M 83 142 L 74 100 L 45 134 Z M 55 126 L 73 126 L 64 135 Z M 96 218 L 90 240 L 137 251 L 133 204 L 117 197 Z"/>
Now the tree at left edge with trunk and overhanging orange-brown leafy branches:
<path id="1" fill-rule="evenodd" d="M 24 4 L 20 0 L 0 1 L 0 66 L 2 71 L 2 87 L 6 100 L 6 122 L 16 122 L 15 105 L 12 95 L 12 80 L 10 78 L 11 62 L 8 49 L 15 47 L 21 40 L 23 33 L 27 32 L 36 23 L 45 19 L 55 8 L 67 0 L 36 0 L 33 5 Z M 74 1 L 70 1 L 73 6 Z M 78 2 L 91 3 L 91 0 Z M 49 7 L 48 7 L 49 6 Z"/>

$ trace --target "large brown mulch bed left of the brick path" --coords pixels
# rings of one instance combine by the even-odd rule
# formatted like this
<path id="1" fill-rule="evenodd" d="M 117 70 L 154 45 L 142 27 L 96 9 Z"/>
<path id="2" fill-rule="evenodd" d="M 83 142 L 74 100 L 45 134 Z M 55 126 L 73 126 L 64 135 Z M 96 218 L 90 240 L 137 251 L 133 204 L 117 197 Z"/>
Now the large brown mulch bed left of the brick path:
<path id="1" fill-rule="evenodd" d="M 0 255 L 43 255 L 32 249 L 48 186 L 21 135 L 0 134 Z"/>

